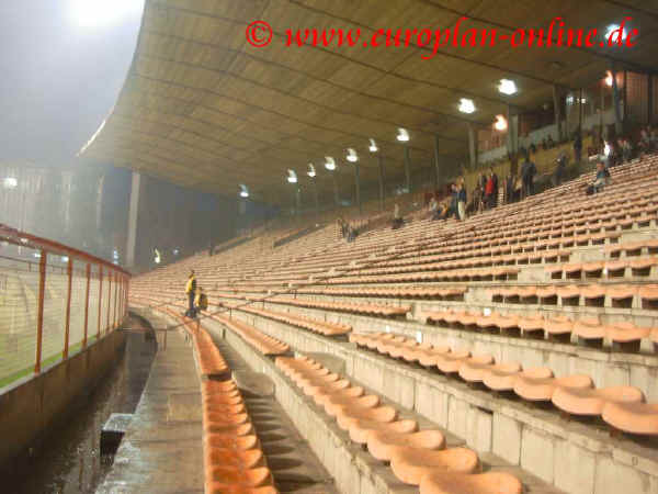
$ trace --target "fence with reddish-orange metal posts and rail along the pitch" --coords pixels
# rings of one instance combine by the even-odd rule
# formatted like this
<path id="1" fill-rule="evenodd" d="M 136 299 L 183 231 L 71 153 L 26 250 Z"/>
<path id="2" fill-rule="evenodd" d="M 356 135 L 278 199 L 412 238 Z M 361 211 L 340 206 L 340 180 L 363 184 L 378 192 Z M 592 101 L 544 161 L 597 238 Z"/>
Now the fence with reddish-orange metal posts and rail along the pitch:
<path id="1" fill-rule="evenodd" d="M 131 274 L 103 259 L 0 225 L 0 389 L 114 330 Z"/>

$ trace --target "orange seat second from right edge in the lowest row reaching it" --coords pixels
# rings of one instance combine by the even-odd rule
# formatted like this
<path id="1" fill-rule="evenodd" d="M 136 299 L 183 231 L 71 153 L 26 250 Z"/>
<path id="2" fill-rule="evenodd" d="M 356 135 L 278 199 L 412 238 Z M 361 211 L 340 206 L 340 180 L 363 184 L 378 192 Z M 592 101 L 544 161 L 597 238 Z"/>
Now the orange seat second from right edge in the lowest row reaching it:
<path id="1" fill-rule="evenodd" d="M 606 403 L 640 403 L 644 394 L 633 386 L 611 386 L 598 390 L 588 388 L 556 388 L 553 404 L 571 415 L 601 415 Z"/>

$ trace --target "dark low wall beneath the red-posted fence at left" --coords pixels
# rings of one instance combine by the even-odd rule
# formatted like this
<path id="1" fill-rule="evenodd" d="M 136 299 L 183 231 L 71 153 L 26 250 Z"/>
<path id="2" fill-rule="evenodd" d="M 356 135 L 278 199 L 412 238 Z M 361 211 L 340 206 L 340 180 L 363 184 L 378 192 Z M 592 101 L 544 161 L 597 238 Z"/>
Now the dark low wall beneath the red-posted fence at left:
<path id="1" fill-rule="evenodd" d="M 27 448 L 38 448 L 75 400 L 112 369 L 124 346 L 125 333 L 112 332 L 41 374 L 0 390 L 0 467 L 11 468 Z"/>

